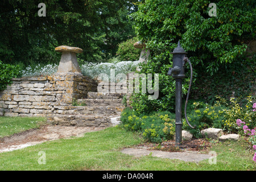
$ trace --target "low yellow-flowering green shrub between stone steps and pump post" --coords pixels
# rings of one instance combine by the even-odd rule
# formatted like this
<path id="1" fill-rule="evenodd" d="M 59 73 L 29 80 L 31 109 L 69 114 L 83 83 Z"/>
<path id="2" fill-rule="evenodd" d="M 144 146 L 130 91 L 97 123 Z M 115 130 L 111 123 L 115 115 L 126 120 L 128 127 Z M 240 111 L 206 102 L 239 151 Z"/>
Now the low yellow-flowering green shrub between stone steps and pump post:
<path id="1" fill-rule="evenodd" d="M 155 143 L 174 137 L 174 118 L 174 114 L 168 111 L 138 114 L 130 108 L 126 108 L 121 114 L 122 126 L 126 130 L 138 131 L 145 139 Z"/>

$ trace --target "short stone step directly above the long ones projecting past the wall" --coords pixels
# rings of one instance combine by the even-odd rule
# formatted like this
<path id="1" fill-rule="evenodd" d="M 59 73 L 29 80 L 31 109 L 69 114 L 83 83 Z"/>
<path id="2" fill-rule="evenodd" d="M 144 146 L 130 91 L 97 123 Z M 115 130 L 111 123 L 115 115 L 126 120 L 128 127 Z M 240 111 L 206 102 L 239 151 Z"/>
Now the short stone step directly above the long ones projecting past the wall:
<path id="1" fill-rule="evenodd" d="M 77 104 L 85 104 L 86 106 L 122 106 L 122 99 L 91 99 L 84 98 L 77 100 Z"/>

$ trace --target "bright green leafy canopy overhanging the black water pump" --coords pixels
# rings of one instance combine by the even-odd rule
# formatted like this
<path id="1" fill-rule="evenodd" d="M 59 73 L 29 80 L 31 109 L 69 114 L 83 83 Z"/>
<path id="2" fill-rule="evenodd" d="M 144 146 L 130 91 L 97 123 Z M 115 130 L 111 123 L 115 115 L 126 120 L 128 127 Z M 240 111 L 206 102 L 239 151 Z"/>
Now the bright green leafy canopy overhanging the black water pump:
<path id="1" fill-rule="evenodd" d="M 217 16 L 209 16 L 211 1 L 147 0 L 131 15 L 139 39 L 147 42 L 154 57 L 170 52 L 178 40 L 193 65 L 209 73 L 232 63 L 255 38 L 255 5 L 252 0 L 214 1 Z M 160 57 L 159 57 L 160 58 Z"/>

